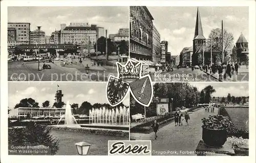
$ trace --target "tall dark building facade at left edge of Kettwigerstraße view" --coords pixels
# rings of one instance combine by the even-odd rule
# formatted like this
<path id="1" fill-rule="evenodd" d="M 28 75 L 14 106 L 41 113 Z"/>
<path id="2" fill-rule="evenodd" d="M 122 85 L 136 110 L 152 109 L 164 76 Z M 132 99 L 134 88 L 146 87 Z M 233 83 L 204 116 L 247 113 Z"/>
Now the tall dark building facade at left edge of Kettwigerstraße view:
<path id="1" fill-rule="evenodd" d="M 153 19 L 145 6 L 130 6 L 131 58 L 152 61 Z"/>

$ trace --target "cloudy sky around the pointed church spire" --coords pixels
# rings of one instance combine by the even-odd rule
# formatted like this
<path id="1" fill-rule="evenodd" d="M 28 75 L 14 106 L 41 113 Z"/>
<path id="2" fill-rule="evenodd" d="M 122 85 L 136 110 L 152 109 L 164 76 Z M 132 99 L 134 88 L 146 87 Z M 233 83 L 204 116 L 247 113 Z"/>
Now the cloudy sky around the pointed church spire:
<path id="1" fill-rule="evenodd" d="M 179 55 L 184 47 L 193 46 L 197 7 L 147 7 L 154 20 L 153 24 L 161 35 L 161 41 L 168 41 L 168 52 Z M 199 7 L 204 37 L 210 30 L 223 28 L 232 33 L 234 43 L 241 32 L 249 40 L 248 7 Z"/>

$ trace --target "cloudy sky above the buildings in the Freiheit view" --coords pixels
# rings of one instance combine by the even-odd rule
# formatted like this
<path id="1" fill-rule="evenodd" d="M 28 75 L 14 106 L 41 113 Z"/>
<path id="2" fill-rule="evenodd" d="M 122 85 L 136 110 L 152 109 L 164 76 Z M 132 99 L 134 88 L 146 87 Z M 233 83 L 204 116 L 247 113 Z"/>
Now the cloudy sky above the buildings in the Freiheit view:
<path id="1" fill-rule="evenodd" d="M 120 28 L 129 28 L 129 7 L 8 7 L 8 22 L 30 22 L 30 30 L 37 26 L 50 35 L 60 24 L 89 22 L 116 34 Z"/>

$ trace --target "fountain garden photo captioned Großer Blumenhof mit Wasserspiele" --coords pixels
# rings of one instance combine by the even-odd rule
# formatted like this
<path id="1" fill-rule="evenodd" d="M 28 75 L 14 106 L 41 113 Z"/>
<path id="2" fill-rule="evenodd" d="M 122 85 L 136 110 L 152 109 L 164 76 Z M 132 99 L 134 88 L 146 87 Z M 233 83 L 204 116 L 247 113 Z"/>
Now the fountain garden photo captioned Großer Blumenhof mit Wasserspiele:
<path id="1" fill-rule="evenodd" d="M 129 140 L 129 105 L 112 107 L 104 82 L 9 82 L 9 155 L 108 155 Z"/>

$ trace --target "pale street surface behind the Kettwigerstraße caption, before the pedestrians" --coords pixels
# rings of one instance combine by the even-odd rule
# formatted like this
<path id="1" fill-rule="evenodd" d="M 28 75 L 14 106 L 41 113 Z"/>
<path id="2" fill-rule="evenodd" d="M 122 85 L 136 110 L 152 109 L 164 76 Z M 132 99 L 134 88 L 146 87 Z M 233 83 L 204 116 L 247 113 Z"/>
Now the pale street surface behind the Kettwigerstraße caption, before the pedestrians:
<path id="1" fill-rule="evenodd" d="M 174 68 L 173 72 L 162 72 L 160 74 L 152 74 L 152 81 L 154 82 L 204 82 L 204 81 L 211 81 L 216 82 L 218 81 L 214 77 L 211 77 L 200 71 L 200 69 L 194 69 L 191 71 L 191 68 Z"/>

